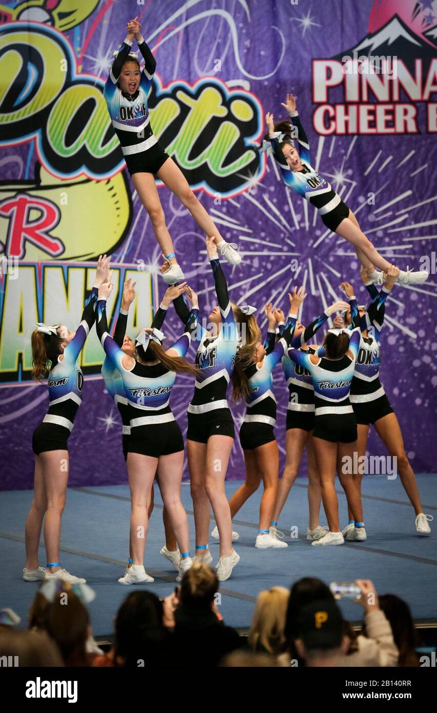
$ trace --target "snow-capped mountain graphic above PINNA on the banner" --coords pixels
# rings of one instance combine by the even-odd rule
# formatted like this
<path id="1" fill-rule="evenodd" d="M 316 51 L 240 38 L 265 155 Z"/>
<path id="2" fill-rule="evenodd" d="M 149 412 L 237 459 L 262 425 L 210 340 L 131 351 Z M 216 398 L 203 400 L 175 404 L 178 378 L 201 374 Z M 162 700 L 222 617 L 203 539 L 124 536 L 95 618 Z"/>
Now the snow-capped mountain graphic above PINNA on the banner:
<path id="1" fill-rule="evenodd" d="M 430 41 L 436 41 L 435 36 L 429 36 L 432 32 L 435 33 L 436 28 L 428 31 L 427 37 Z M 396 56 L 404 62 L 411 73 L 414 73 L 415 60 L 421 59 L 423 61 L 423 76 L 425 76 L 431 60 L 437 56 L 437 46 L 433 48 L 420 36 L 411 32 L 399 15 L 395 15 L 377 32 L 366 35 L 357 45 L 337 54 L 333 59 L 341 62 L 345 55 L 353 58 L 354 52 L 358 53 L 358 56 L 367 57 Z"/>

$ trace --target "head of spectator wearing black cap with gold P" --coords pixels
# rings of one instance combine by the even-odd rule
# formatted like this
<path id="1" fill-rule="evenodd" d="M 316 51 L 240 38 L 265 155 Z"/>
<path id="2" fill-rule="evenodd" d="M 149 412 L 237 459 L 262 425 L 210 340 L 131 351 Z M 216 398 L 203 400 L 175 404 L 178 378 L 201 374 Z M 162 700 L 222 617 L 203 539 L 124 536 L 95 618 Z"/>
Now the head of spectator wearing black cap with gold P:
<path id="1" fill-rule="evenodd" d="M 300 609 L 295 646 L 307 663 L 342 655 L 347 645 L 343 617 L 333 600 L 323 599 Z"/>

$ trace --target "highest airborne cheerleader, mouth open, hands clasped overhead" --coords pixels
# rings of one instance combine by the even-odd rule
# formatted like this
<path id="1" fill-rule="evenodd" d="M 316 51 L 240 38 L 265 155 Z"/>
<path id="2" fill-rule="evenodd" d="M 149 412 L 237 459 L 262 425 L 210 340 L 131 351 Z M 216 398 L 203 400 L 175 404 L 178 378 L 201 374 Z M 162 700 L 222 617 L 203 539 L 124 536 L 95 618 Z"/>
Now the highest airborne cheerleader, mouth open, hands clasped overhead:
<path id="1" fill-rule="evenodd" d="M 131 52 L 134 39 L 144 59 L 142 71 L 137 55 Z M 152 131 L 147 96 L 152 86 L 155 67 L 154 56 L 144 41 L 141 25 L 135 18 L 127 23 L 127 35 L 115 56 L 103 96 L 115 133 L 120 140 L 132 183 L 149 214 L 159 247 L 169 261 L 169 269 L 162 277 L 165 282 L 171 284 L 184 279 L 184 275 L 177 264 L 172 238 L 155 185 L 155 176 L 188 208 L 204 232 L 219 236 L 217 249 L 231 265 L 239 265 L 241 257 L 236 252 L 237 246 L 226 243 L 220 236 L 211 217 L 189 187 L 184 174 L 162 148 Z"/>

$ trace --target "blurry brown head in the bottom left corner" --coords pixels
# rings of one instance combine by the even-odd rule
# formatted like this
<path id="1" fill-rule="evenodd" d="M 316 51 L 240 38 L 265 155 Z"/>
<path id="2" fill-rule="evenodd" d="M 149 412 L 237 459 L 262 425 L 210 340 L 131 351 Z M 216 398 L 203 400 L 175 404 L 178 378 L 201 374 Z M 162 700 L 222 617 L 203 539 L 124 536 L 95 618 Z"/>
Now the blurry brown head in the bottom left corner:
<path id="1" fill-rule="evenodd" d="M 41 631 L 17 631 L 4 627 L 0 630 L 0 657 L 4 656 L 11 657 L 13 666 L 63 666 L 56 643 Z"/>

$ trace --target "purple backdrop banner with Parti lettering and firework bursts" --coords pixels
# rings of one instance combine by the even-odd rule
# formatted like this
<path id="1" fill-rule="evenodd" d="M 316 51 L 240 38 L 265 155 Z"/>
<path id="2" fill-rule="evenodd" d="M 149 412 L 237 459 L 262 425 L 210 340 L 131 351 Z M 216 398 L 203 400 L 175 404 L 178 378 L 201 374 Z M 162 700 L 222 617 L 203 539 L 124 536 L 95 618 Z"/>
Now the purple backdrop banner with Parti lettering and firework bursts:
<path id="1" fill-rule="evenodd" d="M 288 193 L 273 158 L 256 148 L 265 111 L 285 118 L 288 92 L 312 164 L 369 239 L 399 267 L 431 272 L 426 284 L 396 287 L 386 302 L 381 380 L 413 467 L 435 472 L 437 0 L 26 0 L 0 4 L 0 488 L 33 482 L 31 436 L 48 404 L 46 386 L 30 379 L 33 322 L 75 329 L 90 262 L 101 252 L 115 267 L 112 316 L 125 277 L 137 279 L 130 334 L 149 325 L 164 292 L 159 247 L 102 97 L 112 50 L 134 16 L 157 60 L 154 133 L 223 237 L 238 243 L 243 264 L 224 267 L 231 297 L 258 307 L 264 331 L 263 305 L 286 309 L 295 284 L 308 292 L 304 324 L 339 299 L 343 279 L 359 302 L 367 294 L 349 244 Z M 159 197 L 206 317 L 215 295 L 204 236 L 168 188 Z M 169 342 L 180 332 L 173 312 L 164 332 Z M 72 486 L 126 481 L 102 357 L 93 329 L 69 441 Z M 193 389 L 179 376 L 172 392 L 183 431 Z M 288 389 L 280 367 L 275 390 L 283 459 Z M 238 428 L 242 407 L 233 414 Z M 369 452 L 385 452 L 375 434 Z M 243 474 L 237 439 L 228 477 Z"/>

